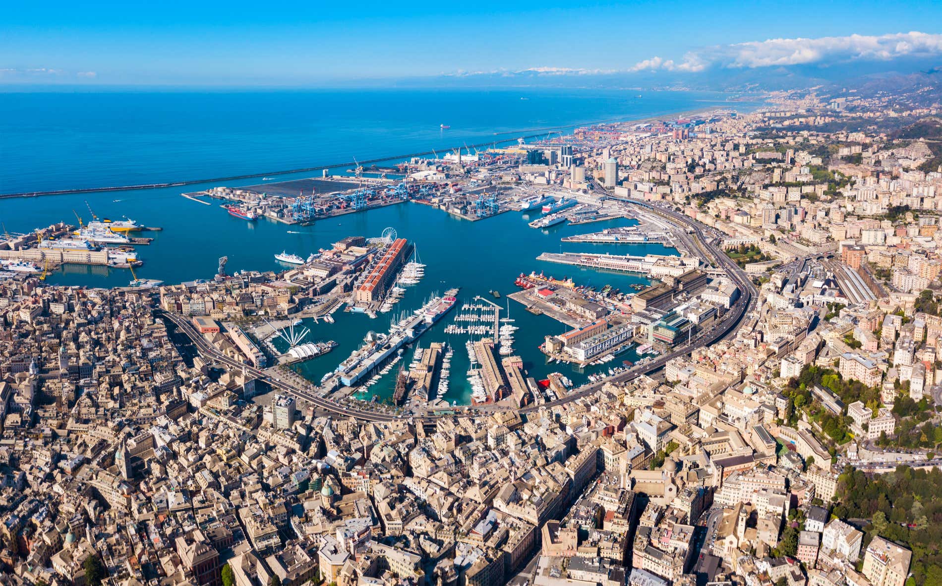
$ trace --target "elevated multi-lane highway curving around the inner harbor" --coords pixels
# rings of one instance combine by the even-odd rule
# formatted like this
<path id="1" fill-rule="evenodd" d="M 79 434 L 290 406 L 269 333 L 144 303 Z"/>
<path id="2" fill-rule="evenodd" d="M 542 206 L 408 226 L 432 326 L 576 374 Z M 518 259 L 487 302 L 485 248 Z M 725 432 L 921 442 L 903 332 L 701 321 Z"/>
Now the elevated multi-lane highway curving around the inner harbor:
<path id="1" fill-rule="evenodd" d="M 598 187 L 594 187 L 596 190 Z M 604 193 L 604 192 L 603 192 Z M 684 347 L 681 347 L 677 350 L 671 351 L 669 353 L 658 356 L 658 358 L 646 362 L 643 365 L 636 365 L 624 372 L 620 372 L 614 376 L 611 376 L 607 379 L 599 381 L 597 383 L 588 383 L 584 384 L 572 393 L 566 395 L 561 399 L 556 399 L 552 401 L 544 402 L 540 405 L 528 405 L 519 410 L 521 414 L 528 414 L 537 412 L 540 409 L 552 408 L 556 405 L 563 405 L 577 399 L 592 395 L 596 391 L 602 388 L 605 383 L 626 383 L 632 381 L 644 374 L 655 372 L 658 369 L 662 368 L 670 360 L 678 356 L 683 356 L 690 354 L 691 351 L 698 348 L 703 348 L 704 346 L 709 346 L 715 344 L 727 337 L 733 336 L 739 330 L 739 327 L 742 325 L 743 317 L 748 316 L 749 314 L 755 311 L 755 306 L 758 302 L 758 291 L 756 291 L 755 286 L 746 276 L 745 272 L 742 269 L 739 269 L 739 266 L 736 265 L 728 256 L 726 256 L 722 251 L 717 249 L 715 246 L 709 243 L 709 240 L 701 232 L 700 226 L 694 220 L 677 214 L 673 209 L 661 208 L 659 206 L 651 205 L 650 203 L 645 202 L 635 202 L 631 201 L 631 204 L 640 205 L 648 210 L 658 213 L 661 216 L 665 216 L 670 220 L 673 220 L 676 224 L 686 227 L 686 230 L 690 231 L 691 234 L 685 231 L 678 231 L 678 236 L 684 241 L 685 245 L 689 247 L 689 251 L 694 253 L 699 251 L 703 254 L 707 262 L 713 262 L 717 266 L 723 268 L 729 276 L 729 278 L 739 287 L 739 299 L 730 307 L 730 309 L 723 315 L 723 318 L 715 323 L 709 330 L 697 334 L 694 337 L 690 344 Z M 692 236 L 692 237 L 691 237 Z M 186 334 L 187 337 L 192 340 L 193 344 L 196 346 L 197 350 L 200 351 L 203 356 L 206 358 L 212 359 L 220 364 L 230 366 L 232 368 L 241 369 L 245 367 L 246 372 L 256 377 L 257 379 L 262 380 L 265 383 L 268 383 L 272 388 L 280 390 L 284 393 L 290 393 L 299 399 L 304 399 L 312 404 L 315 407 L 333 413 L 335 415 L 342 415 L 346 417 L 354 417 L 356 419 L 361 419 L 364 421 L 393 421 L 396 419 L 414 419 L 417 421 L 434 421 L 435 419 L 441 417 L 450 417 L 454 415 L 409 415 L 409 414 L 389 414 L 389 413 L 379 413 L 374 411 L 367 411 L 364 409 L 351 408 L 349 406 L 343 405 L 339 402 L 336 402 L 331 399 L 326 399 L 319 397 L 312 393 L 311 391 L 300 388 L 299 386 L 290 383 L 288 381 L 281 380 L 277 377 L 270 376 L 267 372 L 254 368 L 252 366 L 245 365 L 237 360 L 234 360 L 222 352 L 220 352 L 215 346 L 213 346 L 203 334 L 200 334 L 192 322 L 186 317 L 166 312 L 163 310 L 157 310 L 154 312 L 158 317 L 167 317 L 176 324 L 179 328 L 180 333 Z M 485 408 L 471 408 L 465 407 L 461 411 L 459 416 L 465 417 L 486 417 L 494 413 L 495 408 L 485 407 Z"/>

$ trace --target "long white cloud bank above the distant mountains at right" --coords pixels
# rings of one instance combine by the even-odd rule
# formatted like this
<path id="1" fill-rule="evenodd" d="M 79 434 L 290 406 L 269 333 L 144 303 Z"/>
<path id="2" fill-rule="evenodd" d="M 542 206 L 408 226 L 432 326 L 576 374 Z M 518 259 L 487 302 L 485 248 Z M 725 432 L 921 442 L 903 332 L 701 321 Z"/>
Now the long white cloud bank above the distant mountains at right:
<path id="1" fill-rule="evenodd" d="M 913 31 L 879 36 L 769 39 L 715 45 L 691 51 L 679 63 L 662 57 L 644 59 L 636 63 L 630 71 L 699 72 L 714 66 L 751 69 L 846 62 L 857 59 L 889 60 L 899 57 L 929 57 L 940 54 L 942 54 L 942 35 Z"/>

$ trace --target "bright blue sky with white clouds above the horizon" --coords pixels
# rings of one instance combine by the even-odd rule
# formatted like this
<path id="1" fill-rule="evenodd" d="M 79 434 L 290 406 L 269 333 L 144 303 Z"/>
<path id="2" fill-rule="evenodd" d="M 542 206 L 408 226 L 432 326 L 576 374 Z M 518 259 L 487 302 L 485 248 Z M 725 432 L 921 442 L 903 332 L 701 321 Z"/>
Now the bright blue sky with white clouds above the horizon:
<path id="1" fill-rule="evenodd" d="M 942 3 L 923 0 L 11 2 L 0 22 L 0 85 L 318 86 L 529 69 L 681 73 L 914 52 L 942 57 L 940 33 Z"/>

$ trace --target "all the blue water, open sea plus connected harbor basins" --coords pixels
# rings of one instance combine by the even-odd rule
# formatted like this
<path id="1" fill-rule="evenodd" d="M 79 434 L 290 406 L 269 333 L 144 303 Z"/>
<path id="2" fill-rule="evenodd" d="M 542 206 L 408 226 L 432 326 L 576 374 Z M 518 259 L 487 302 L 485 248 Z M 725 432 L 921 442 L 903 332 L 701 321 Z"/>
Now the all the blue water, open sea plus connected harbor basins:
<path id="1" fill-rule="evenodd" d="M 696 92 L 636 96 L 637 91 L 595 90 L 0 93 L 0 193 L 313 167 L 353 157 L 363 160 L 514 138 L 534 128 L 638 119 L 723 103 L 722 95 Z M 440 130 L 442 123 L 451 129 Z M 227 185 L 255 183 L 257 179 Z M 186 190 L 215 185 L 198 184 Z M 180 197 L 181 190 L 167 187 L 0 199 L 0 222 L 11 233 L 24 233 L 57 221 L 74 223 L 75 215 L 88 219 L 90 206 L 102 217 L 127 216 L 161 226 L 162 232 L 147 235 L 154 236 L 152 245 L 138 248 L 144 261 L 138 277 L 168 283 L 211 278 L 222 255 L 229 256 L 230 272 L 284 269 L 273 258 L 277 252 L 306 256 L 343 236 L 379 236 L 383 228 L 395 227 L 399 236 L 417 245 L 428 265 L 426 279 L 411 287 L 397 310 L 387 316 L 369 319 L 338 313 L 334 324 L 308 324 L 311 339 L 339 343 L 330 354 L 300 367 L 315 381 L 355 350 L 368 330 L 387 331 L 399 308 L 415 309 L 434 291 L 460 286 L 459 303 L 487 295 L 491 289 L 506 295 L 515 290 L 513 281 L 520 272 L 534 269 L 573 275 L 578 284 L 596 287 L 609 283 L 628 290 L 633 283 L 647 283 L 639 276 L 540 263 L 535 260 L 540 252 L 674 252 L 660 245 L 560 243 L 561 236 L 625 225 L 629 220 L 538 231 L 528 228 L 528 217 L 519 212 L 469 222 L 428 206 L 403 203 L 298 228 L 264 219 L 237 220 L 217 203 L 203 205 Z M 129 280 L 130 274 L 123 269 L 67 266 L 51 274 L 48 282 L 116 286 L 127 285 Z M 522 327 L 514 346 L 530 374 L 544 377 L 566 368 L 545 365 L 537 350 L 545 334 L 560 334 L 564 326 L 549 317 L 528 314 L 513 302 L 511 313 Z M 450 318 L 423 336 L 423 347 L 447 338 L 442 331 Z M 446 399 L 460 403 L 467 402 L 470 392 L 465 381 L 465 339 L 448 339 L 456 351 Z M 636 359 L 631 353 L 625 358 Z M 370 392 L 388 396 L 394 374 Z M 586 374 L 570 376 L 582 382 Z"/>

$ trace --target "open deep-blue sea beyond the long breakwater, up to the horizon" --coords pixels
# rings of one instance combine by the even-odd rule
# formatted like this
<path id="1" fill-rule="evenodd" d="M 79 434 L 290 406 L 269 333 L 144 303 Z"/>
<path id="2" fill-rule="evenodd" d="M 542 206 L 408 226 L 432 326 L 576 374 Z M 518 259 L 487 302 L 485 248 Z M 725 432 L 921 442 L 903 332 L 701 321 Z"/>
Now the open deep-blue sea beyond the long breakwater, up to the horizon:
<path id="1" fill-rule="evenodd" d="M 724 105 L 638 90 L 0 92 L 0 194 L 271 173 Z"/>

